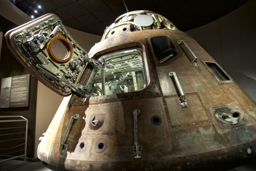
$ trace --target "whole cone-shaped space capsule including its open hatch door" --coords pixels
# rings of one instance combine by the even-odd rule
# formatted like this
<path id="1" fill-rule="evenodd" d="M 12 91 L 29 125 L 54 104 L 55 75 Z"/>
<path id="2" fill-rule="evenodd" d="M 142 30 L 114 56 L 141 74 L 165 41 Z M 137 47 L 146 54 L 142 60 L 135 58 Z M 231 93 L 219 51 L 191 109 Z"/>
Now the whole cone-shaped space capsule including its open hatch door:
<path id="1" fill-rule="evenodd" d="M 255 102 L 162 15 L 119 16 L 89 53 L 54 14 L 5 40 L 39 81 L 72 94 L 38 146 L 51 168 L 213 169 L 255 155 Z"/>

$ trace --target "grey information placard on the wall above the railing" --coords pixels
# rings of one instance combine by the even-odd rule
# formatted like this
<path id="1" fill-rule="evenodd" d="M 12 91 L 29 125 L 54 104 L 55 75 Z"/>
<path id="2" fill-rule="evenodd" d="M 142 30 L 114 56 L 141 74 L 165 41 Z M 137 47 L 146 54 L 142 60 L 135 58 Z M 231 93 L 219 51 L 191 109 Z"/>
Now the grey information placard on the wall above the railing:
<path id="1" fill-rule="evenodd" d="M 2 79 L 0 108 L 27 107 L 29 105 L 30 74 Z"/>

